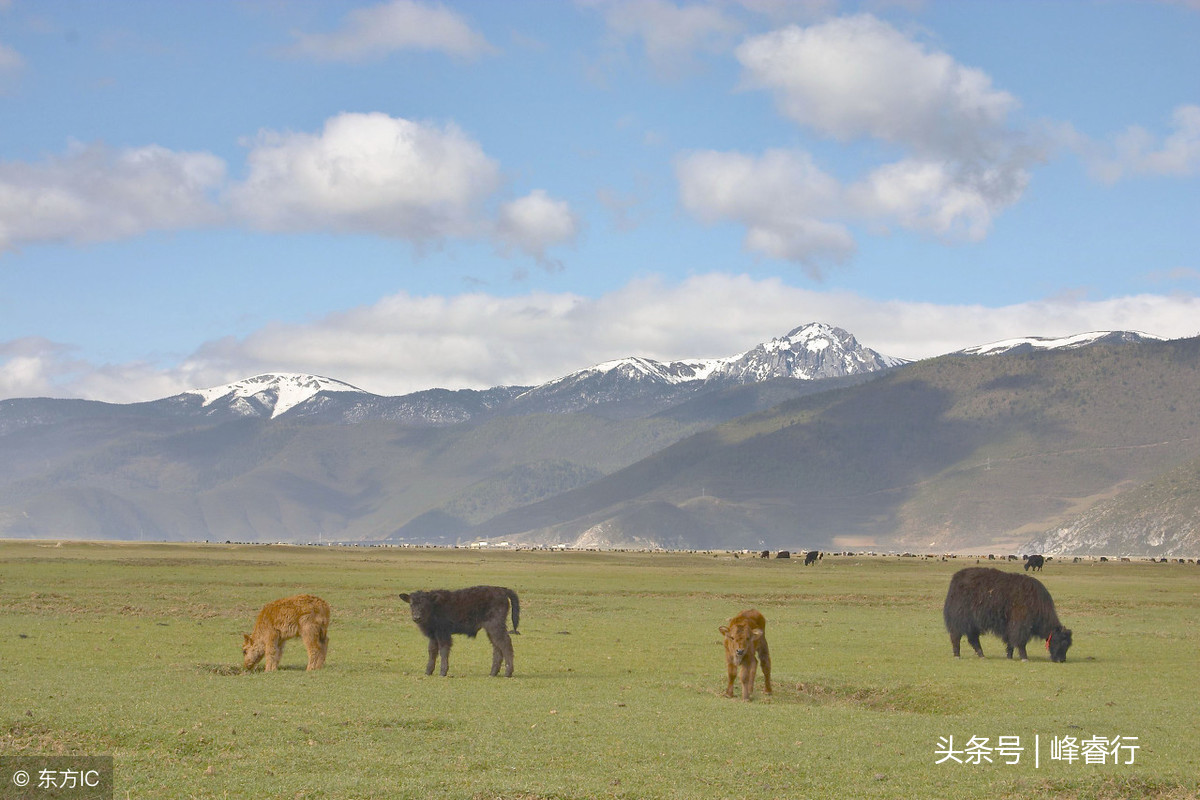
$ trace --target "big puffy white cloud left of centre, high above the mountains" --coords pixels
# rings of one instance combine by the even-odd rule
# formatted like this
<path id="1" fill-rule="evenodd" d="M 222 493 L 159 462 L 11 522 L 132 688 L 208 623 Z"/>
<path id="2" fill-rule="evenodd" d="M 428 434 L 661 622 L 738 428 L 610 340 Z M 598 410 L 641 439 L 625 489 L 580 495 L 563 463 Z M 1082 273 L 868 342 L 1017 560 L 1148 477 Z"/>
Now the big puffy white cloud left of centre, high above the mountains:
<path id="1" fill-rule="evenodd" d="M 413 241 L 476 235 L 500 172 L 454 125 L 340 114 L 312 133 L 263 132 L 230 204 L 271 231 L 370 233 Z"/>

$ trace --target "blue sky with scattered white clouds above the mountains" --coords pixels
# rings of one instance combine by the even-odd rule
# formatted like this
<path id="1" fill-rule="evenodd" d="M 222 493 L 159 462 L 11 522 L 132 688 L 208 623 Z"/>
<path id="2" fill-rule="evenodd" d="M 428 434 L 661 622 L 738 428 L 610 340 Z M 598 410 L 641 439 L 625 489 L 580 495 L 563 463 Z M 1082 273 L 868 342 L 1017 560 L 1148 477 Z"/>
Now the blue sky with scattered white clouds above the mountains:
<path id="1" fill-rule="evenodd" d="M 1200 333 L 1200 4 L 0 0 L 0 397 Z"/>

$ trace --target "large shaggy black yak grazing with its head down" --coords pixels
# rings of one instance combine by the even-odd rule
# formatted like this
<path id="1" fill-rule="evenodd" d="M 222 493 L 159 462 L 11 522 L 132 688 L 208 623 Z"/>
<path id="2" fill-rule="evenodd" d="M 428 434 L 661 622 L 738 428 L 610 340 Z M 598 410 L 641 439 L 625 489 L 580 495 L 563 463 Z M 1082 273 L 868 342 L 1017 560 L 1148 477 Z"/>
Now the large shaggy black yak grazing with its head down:
<path id="1" fill-rule="evenodd" d="M 1046 640 L 1050 661 L 1067 661 L 1070 630 L 1058 621 L 1046 588 L 1027 575 L 984 566 L 959 570 L 950 578 L 942 616 L 955 658 L 964 636 L 982 658 L 979 634 L 995 633 L 1003 639 L 1009 658 L 1015 648 L 1026 661 L 1025 645 L 1037 636 Z"/>

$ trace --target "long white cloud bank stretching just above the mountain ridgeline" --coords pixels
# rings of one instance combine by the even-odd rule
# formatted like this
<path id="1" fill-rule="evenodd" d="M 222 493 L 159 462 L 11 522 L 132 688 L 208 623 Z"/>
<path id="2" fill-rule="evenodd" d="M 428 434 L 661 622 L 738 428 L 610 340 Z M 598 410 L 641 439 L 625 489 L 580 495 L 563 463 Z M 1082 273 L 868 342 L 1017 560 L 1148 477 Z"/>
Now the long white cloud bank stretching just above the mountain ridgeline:
<path id="1" fill-rule="evenodd" d="M 245 338 L 209 342 L 164 369 L 144 362 L 85 365 L 40 339 L 0 343 L 0 397 L 145 401 L 270 371 L 312 372 L 402 395 L 535 384 L 626 355 L 733 355 L 809 321 L 845 327 L 887 355 L 920 359 L 1016 336 L 1094 330 L 1196 336 L 1198 319 L 1200 299 L 1189 296 L 940 306 L 725 273 L 679 283 L 640 279 L 595 299 L 397 294 L 311 323 L 272 324 Z"/>

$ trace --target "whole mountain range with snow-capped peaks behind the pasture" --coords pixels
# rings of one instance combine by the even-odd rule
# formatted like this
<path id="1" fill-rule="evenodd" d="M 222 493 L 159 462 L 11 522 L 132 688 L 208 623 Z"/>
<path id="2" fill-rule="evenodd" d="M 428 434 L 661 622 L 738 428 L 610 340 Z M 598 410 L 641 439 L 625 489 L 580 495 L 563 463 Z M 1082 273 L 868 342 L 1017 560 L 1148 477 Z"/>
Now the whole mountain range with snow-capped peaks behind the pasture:
<path id="1" fill-rule="evenodd" d="M 908 363 L 814 324 L 536 386 L 8 399 L 0 535 L 1196 554 L 1198 374 L 1195 339 Z"/>

